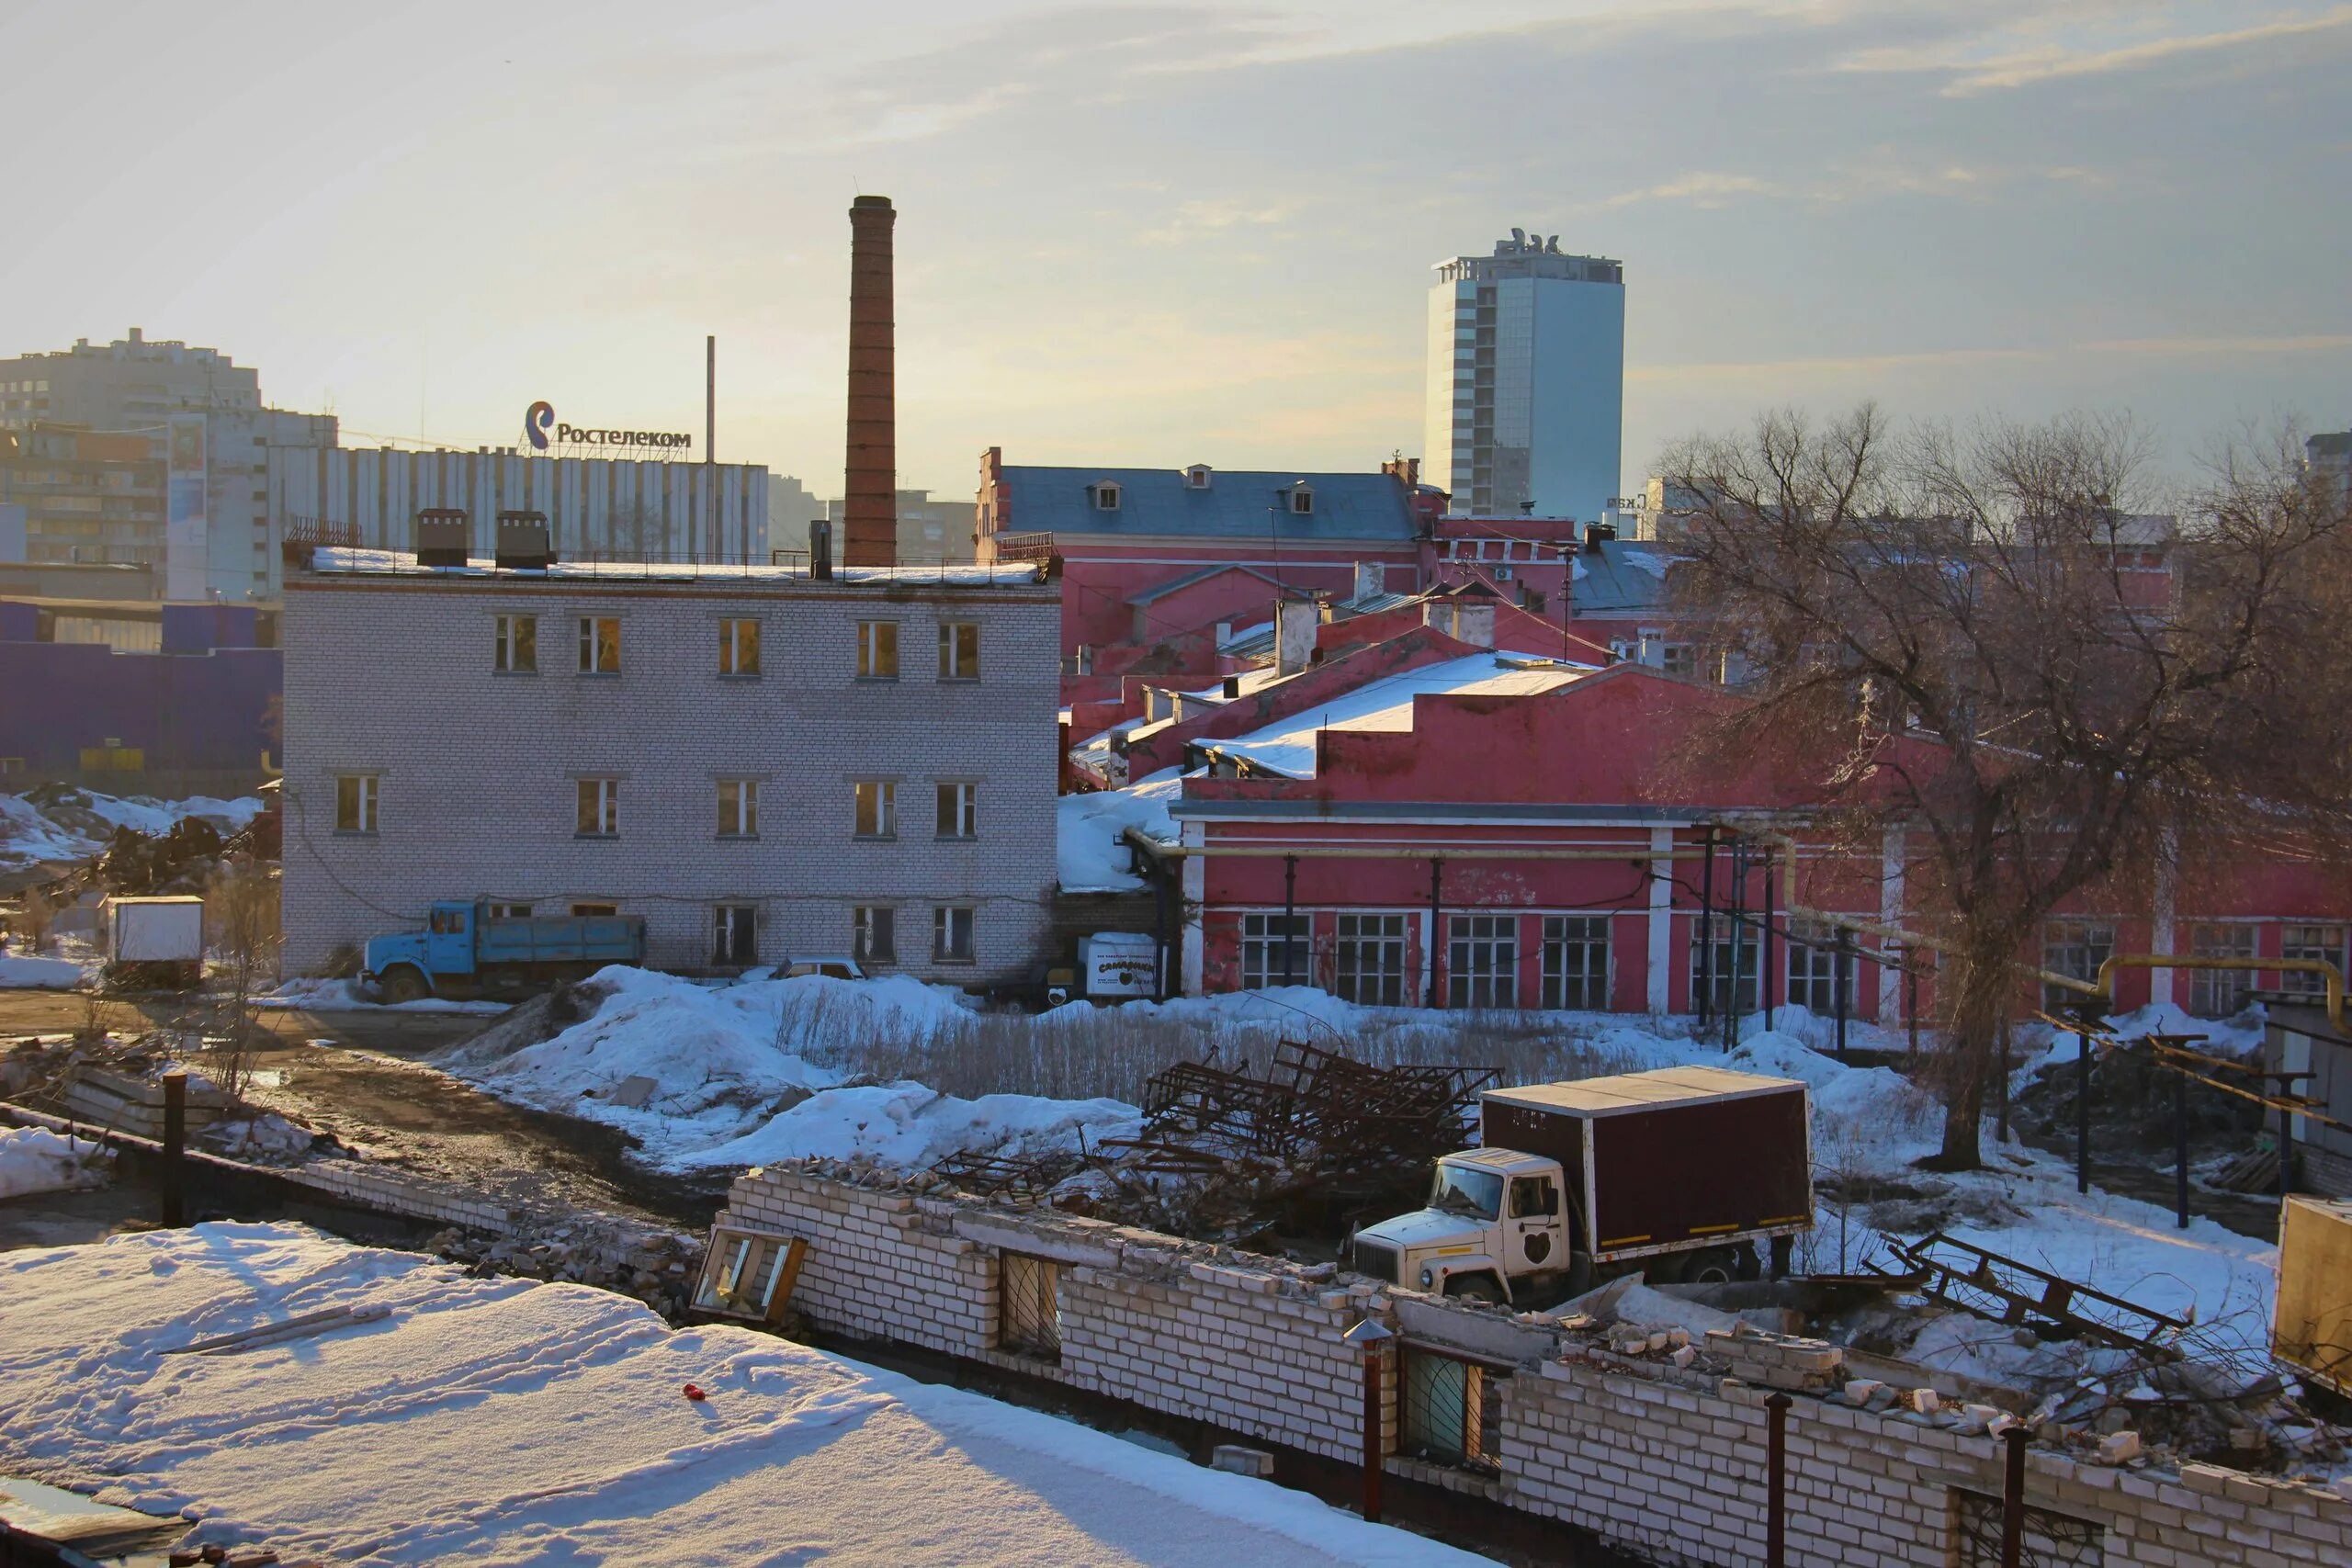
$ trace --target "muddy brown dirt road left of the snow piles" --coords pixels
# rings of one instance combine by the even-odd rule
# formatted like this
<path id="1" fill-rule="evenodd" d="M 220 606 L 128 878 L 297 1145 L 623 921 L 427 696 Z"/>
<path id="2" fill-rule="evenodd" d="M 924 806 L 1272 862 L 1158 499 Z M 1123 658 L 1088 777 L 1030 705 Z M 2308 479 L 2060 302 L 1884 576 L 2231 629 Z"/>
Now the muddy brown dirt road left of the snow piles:
<path id="1" fill-rule="evenodd" d="M 115 1032 L 188 1023 L 181 999 L 108 1001 L 108 1011 Z M 85 1018 L 78 994 L 0 992 L 0 1044 L 66 1034 Z M 708 1225 L 722 1201 L 724 1185 L 633 1166 L 628 1140 L 612 1128 L 494 1100 L 419 1063 L 492 1018 L 268 1011 L 261 1020 L 275 1044 L 254 1058 L 249 1098 L 372 1159 L 461 1180 L 492 1199 L 637 1213 L 687 1229 Z"/>

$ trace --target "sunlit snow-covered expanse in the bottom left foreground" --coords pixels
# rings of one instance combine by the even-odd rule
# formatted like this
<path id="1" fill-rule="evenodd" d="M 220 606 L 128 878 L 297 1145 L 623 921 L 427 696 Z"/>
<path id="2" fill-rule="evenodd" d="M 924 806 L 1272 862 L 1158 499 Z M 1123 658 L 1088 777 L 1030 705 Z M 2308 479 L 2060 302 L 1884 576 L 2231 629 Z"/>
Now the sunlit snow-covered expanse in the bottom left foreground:
<path id="1" fill-rule="evenodd" d="M 162 1354 L 325 1307 L 383 1316 Z M 9 1469 L 287 1561 L 1484 1561 L 748 1328 L 292 1225 L 0 1255 L 0 1389 Z"/>

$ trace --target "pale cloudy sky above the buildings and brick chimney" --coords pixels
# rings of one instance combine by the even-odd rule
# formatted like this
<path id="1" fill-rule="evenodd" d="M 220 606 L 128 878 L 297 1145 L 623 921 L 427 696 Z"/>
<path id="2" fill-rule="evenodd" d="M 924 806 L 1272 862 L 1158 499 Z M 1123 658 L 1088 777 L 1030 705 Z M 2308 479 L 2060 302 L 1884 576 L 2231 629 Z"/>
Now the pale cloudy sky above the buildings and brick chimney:
<path id="1" fill-rule="evenodd" d="M 898 477 L 1367 470 L 1430 266 L 1625 263 L 1625 480 L 1769 407 L 2352 428 L 2352 5 L 0 0 L 0 353 L 151 339 L 346 444 L 703 423 L 840 491 L 849 200 Z"/>

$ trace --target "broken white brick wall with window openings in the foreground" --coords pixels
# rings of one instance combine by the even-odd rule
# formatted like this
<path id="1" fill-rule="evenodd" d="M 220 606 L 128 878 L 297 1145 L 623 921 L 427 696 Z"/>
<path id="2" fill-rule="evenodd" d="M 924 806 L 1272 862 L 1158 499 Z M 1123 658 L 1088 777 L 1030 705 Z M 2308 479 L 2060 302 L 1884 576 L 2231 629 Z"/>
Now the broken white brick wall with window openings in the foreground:
<path id="1" fill-rule="evenodd" d="M 1985 1422 L 2006 1418 L 1849 1389 L 1830 1345 L 1743 1333 L 1637 1347 L 1331 1265 L 995 1208 L 835 1161 L 741 1175 L 715 1239 L 729 1234 L 807 1244 L 790 1307 L 823 1333 L 946 1352 L 1343 1462 L 1362 1455 L 1364 1378 L 1341 1333 L 1378 1319 L 1397 1335 L 1383 1378 L 1390 1474 L 1562 1519 L 1661 1563 L 1762 1561 L 1764 1401 L 1788 1389 L 1790 1563 L 1999 1561 L 2004 1443 Z M 2037 1446 L 2025 1495 L 2044 1561 L 2220 1568 L 2352 1552 L 2352 1497 L 2209 1465 L 2171 1474 Z"/>

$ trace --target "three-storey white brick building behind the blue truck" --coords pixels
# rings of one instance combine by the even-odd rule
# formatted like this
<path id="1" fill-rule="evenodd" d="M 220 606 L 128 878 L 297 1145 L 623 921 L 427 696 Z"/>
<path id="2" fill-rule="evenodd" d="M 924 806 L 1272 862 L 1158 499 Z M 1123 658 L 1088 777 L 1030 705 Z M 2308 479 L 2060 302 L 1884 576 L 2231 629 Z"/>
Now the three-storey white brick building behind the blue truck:
<path id="1" fill-rule="evenodd" d="M 1021 978 L 1054 886 L 1058 625 L 1033 569 L 320 550 L 285 604 L 285 964 L 487 898 L 642 914 L 668 969 Z"/>

